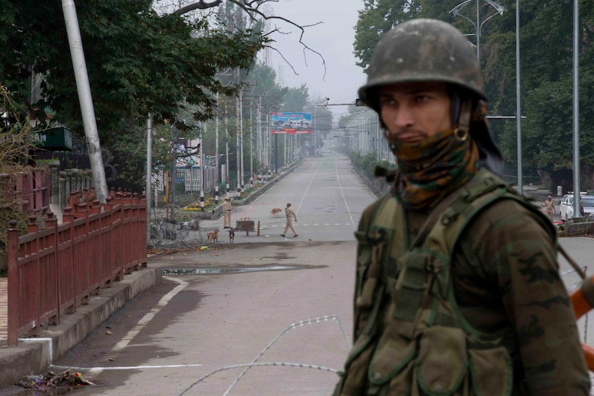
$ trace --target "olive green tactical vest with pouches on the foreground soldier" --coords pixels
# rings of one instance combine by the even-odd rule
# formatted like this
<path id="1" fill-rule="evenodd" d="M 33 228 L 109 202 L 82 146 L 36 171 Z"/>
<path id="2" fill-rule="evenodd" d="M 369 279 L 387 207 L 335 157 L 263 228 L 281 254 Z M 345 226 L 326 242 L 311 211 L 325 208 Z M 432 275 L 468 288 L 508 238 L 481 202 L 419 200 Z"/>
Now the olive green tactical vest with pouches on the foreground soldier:
<path id="1" fill-rule="evenodd" d="M 436 208 L 426 237 L 405 246 L 405 213 L 394 196 L 376 206 L 357 231 L 355 342 L 335 396 L 509 396 L 511 329 L 483 333 L 464 318 L 451 282 L 453 249 L 464 228 L 496 200 L 513 199 L 551 222 L 527 198 L 482 169 Z"/>

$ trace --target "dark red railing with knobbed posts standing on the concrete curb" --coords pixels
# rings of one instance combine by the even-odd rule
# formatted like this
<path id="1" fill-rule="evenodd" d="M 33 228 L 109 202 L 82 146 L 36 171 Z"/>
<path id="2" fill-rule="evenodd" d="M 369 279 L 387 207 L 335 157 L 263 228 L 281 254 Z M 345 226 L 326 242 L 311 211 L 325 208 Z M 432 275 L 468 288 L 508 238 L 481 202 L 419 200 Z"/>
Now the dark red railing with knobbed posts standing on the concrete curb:
<path id="1" fill-rule="evenodd" d="M 48 213 L 46 228 L 39 230 L 37 217 L 30 216 L 27 234 L 19 236 L 17 222 L 10 222 L 9 346 L 37 334 L 41 324 L 58 324 L 61 313 L 76 311 L 90 295 L 146 266 L 144 197 L 119 192 L 105 204 L 76 201 L 75 209 L 64 209 L 61 225 Z"/>

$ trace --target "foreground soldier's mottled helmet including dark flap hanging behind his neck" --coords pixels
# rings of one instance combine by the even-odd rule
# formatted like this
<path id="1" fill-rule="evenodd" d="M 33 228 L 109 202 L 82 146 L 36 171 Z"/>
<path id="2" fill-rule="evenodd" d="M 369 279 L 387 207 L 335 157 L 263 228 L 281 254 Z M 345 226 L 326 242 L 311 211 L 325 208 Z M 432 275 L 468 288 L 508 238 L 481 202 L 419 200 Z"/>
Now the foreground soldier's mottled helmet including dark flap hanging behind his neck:
<path id="1" fill-rule="evenodd" d="M 460 30 L 437 19 L 411 19 L 399 23 L 384 34 L 371 56 L 367 84 L 360 87 L 359 98 L 380 112 L 378 88 L 395 83 L 436 81 L 461 89 L 452 90 L 457 97 L 452 106 L 459 107 L 461 97 L 473 98 L 471 137 L 477 143 L 480 162 L 498 173 L 502 157 L 489 134 L 487 97 L 476 52 Z M 456 104 L 457 103 L 457 104 Z M 452 109 L 452 122 L 460 116 Z M 382 126 L 383 125 L 382 122 Z"/>

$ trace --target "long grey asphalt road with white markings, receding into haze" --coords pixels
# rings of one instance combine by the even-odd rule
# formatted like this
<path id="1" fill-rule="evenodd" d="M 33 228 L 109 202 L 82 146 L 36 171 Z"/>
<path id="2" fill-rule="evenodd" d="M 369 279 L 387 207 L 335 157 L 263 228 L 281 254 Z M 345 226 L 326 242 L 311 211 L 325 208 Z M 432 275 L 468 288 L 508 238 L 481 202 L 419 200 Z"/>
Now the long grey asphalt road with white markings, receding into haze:
<path id="1" fill-rule="evenodd" d="M 308 158 L 252 205 L 234 207 L 233 222 L 260 221 L 260 236 L 232 245 L 221 232 L 216 249 L 152 258 L 165 271 L 163 284 L 126 304 L 52 370 L 79 370 L 96 383 L 79 396 L 330 395 L 352 341 L 353 231 L 373 199 L 347 158 Z M 286 202 L 297 213 L 298 238 L 278 236 L 285 220 L 269 213 Z M 222 220 L 201 227 L 222 228 Z M 560 243 L 593 273 L 593 240 Z M 577 275 L 560 264 L 572 289 Z M 591 323 L 579 326 L 594 344 Z"/>

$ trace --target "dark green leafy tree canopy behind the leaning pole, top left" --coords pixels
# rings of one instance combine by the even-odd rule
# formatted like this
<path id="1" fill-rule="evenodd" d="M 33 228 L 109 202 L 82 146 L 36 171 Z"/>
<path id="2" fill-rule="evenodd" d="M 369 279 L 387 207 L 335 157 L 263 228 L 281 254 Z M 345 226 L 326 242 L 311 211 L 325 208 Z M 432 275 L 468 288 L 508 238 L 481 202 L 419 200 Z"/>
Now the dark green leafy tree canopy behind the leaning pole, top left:
<path id="1" fill-rule="evenodd" d="M 120 175 L 142 171 L 147 114 L 180 130 L 211 118 L 214 94 L 234 94 L 216 74 L 246 68 L 268 39 L 258 30 L 213 28 L 206 18 L 158 15 L 151 0 L 76 3 L 101 145 L 114 153 Z M 53 120 L 80 136 L 83 124 L 59 1 L 5 1 L 0 8 L 0 83 L 23 103 L 20 118 Z M 30 103 L 30 73 L 42 76 Z M 38 109 L 37 111 L 35 109 Z M 187 120 L 180 119 L 187 114 Z M 170 137 L 167 138 L 170 140 Z M 133 176 L 136 175 L 136 176 Z"/>

